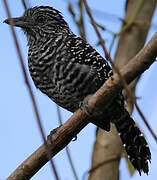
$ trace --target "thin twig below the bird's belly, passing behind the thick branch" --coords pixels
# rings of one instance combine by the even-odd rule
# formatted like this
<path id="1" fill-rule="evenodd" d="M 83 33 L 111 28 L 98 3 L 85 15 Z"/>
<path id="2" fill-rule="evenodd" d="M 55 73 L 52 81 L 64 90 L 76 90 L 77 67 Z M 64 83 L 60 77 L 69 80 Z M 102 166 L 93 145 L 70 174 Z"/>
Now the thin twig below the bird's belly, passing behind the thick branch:
<path id="1" fill-rule="evenodd" d="M 56 105 L 56 108 L 57 108 L 57 115 L 58 115 L 59 124 L 62 125 L 63 121 L 62 121 L 62 115 L 61 115 L 60 108 L 59 108 L 58 105 Z M 68 160 L 69 160 L 69 164 L 70 164 L 73 176 L 74 176 L 75 180 L 79 180 L 76 169 L 75 169 L 75 166 L 74 166 L 74 163 L 73 163 L 71 152 L 70 152 L 70 149 L 69 149 L 68 146 L 65 147 L 65 151 L 66 151 L 66 154 L 67 154 L 67 157 L 68 157 Z"/>

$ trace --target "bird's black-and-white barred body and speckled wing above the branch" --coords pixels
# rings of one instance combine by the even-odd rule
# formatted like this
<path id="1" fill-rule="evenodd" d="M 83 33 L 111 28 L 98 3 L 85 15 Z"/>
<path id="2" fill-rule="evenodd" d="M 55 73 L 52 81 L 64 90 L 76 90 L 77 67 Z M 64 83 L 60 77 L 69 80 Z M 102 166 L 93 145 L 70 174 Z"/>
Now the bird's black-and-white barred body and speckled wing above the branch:
<path id="1" fill-rule="evenodd" d="M 110 66 L 96 50 L 75 35 L 57 37 L 35 50 L 29 53 L 35 85 L 72 112 L 112 74 Z"/>

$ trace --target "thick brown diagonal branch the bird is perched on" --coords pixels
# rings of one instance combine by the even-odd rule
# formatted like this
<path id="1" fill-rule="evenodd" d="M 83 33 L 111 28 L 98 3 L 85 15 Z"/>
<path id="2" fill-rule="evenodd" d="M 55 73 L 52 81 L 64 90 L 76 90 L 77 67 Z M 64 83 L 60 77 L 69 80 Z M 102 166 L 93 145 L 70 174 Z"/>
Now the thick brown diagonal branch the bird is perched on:
<path id="1" fill-rule="evenodd" d="M 143 73 L 155 61 L 157 56 L 157 34 L 149 43 L 121 70 L 125 81 L 129 84 L 137 76 Z M 94 110 L 100 106 L 107 106 L 112 98 L 122 90 L 123 84 L 115 73 L 106 83 L 89 99 L 89 109 Z M 76 111 L 71 118 L 61 126 L 47 141 L 51 158 L 61 151 L 74 136 L 76 136 L 87 124 L 88 116 L 82 111 Z M 28 159 L 26 159 L 8 179 L 30 179 L 43 165 L 49 161 L 47 146 L 42 145 Z"/>

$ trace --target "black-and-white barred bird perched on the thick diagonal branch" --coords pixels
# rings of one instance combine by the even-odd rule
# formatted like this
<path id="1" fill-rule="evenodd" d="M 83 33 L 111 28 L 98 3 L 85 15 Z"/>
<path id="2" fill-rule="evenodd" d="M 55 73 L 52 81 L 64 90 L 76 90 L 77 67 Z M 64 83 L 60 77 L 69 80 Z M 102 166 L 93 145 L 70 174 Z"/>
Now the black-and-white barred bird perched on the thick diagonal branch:
<path id="1" fill-rule="evenodd" d="M 28 66 L 35 86 L 70 112 L 79 109 L 113 75 L 109 62 L 86 40 L 75 35 L 54 7 L 31 7 L 22 16 L 4 22 L 20 27 L 27 37 Z M 106 131 L 114 123 L 130 162 L 140 175 L 148 174 L 151 152 L 126 110 L 122 92 L 96 114 L 97 119 L 91 122 Z"/>

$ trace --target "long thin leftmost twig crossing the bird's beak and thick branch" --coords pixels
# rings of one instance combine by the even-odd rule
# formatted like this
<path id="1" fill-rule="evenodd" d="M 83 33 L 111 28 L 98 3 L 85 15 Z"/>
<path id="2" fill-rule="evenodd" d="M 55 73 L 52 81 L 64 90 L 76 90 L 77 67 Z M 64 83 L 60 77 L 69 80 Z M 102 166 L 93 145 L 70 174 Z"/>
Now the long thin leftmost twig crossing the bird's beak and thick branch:
<path id="1" fill-rule="evenodd" d="M 4 0 L 3 3 L 4 3 L 4 7 L 5 7 L 8 18 L 11 18 L 12 16 L 11 16 L 11 12 L 10 12 L 10 8 L 9 8 L 8 3 L 7 3 L 7 0 Z M 12 33 L 13 40 L 14 40 L 14 43 L 15 43 L 15 47 L 16 47 L 16 50 L 17 50 L 17 54 L 18 54 L 18 57 L 19 57 L 20 67 L 21 67 L 21 70 L 22 70 L 22 73 L 23 73 L 25 84 L 26 84 L 26 87 L 28 89 L 29 96 L 30 96 L 30 99 L 31 99 L 31 102 L 32 102 L 32 107 L 33 107 L 33 110 L 34 110 L 34 113 L 35 113 L 37 125 L 38 125 L 38 128 L 40 130 L 42 140 L 43 140 L 44 144 L 46 144 L 45 132 L 44 132 L 44 129 L 43 129 L 43 126 L 42 126 L 40 113 L 39 113 L 38 106 L 37 106 L 37 103 L 36 103 L 36 98 L 35 98 L 35 96 L 33 94 L 33 90 L 32 90 L 31 84 L 30 84 L 28 76 L 27 76 L 27 70 L 26 70 L 25 65 L 24 65 L 24 58 L 23 58 L 23 55 L 22 55 L 22 52 L 21 52 L 21 48 L 20 48 L 18 39 L 17 39 L 17 35 L 16 35 L 14 27 L 10 26 L 10 28 L 11 28 L 11 33 Z M 47 149 L 47 156 L 50 157 L 48 151 L 49 150 Z M 50 164 L 51 164 L 51 167 L 52 167 L 52 170 L 54 172 L 56 180 L 59 180 L 59 175 L 57 173 L 55 164 L 54 164 L 54 162 L 52 160 L 50 160 Z"/>

